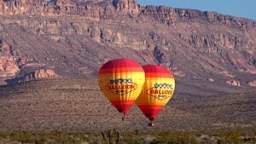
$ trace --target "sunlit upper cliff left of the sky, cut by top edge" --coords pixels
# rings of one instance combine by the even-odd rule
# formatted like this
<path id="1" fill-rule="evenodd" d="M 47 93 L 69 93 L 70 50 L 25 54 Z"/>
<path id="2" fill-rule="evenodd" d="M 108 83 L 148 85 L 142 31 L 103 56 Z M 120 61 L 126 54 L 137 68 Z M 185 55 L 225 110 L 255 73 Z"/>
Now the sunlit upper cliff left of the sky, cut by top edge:
<path id="1" fill-rule="evenodd" d="M 80 15 L 106 18 L 113 14 L 137 14 L 139 9 L 134 0 L 9 0 L 0 2 L 0 14 Z"/>

